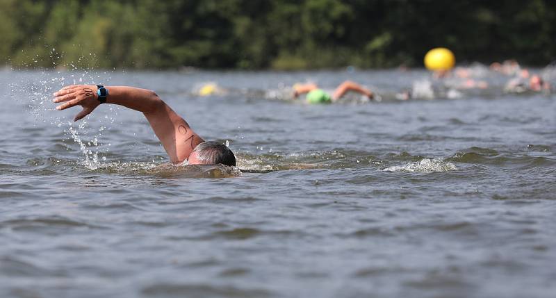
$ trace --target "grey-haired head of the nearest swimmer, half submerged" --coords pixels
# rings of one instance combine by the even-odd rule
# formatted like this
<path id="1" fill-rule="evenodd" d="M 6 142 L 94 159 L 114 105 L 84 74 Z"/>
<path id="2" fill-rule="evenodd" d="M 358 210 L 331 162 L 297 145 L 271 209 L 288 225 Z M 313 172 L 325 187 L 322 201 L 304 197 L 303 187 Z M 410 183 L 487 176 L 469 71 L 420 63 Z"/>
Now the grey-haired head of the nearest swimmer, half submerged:
<path id="1" fill-rule="evenodd" d="M 228 147 L 219 142 L 202 142 L 189 156 L 189 165 L 222 165 L 236 166 L 236 156 Z"/>

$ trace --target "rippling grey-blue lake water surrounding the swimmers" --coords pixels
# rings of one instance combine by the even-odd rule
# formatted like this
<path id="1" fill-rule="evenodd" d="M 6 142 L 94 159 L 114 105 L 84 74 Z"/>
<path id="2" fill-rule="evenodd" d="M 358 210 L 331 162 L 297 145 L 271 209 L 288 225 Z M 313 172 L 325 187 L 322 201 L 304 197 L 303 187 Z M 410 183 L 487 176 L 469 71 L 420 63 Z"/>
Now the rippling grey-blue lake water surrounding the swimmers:
<path id="1" fill-rule="evenodd" d="M 1 71 L 0 297 L 555 297 L 556 96 L 391 96 L 427 78 Z M 345 79 L 383 100 L 269 95 Z M 241 173 L 165 165 L 132 110 L 70 124 L 74 82 L 156 90 Z"/>

